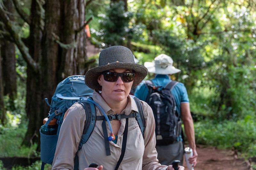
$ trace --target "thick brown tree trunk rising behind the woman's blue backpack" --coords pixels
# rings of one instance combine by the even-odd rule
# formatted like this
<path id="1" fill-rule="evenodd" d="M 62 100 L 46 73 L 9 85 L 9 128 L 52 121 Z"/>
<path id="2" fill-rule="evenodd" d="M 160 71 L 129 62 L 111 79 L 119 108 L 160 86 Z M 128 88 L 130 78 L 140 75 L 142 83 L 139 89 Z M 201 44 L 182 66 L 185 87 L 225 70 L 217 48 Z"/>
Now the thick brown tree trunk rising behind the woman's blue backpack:
<path id="1" fill-rule="evenodd" d="M 40 143 L 39 128 L 50 110 L 44 99 L 51 102 L 57 84 L 64 78 L 84 75 L 87 60 L 85 29 L 80 29 L 85 23 L 85 2 L 46 0 L 45 11 L 37 2 L 33 0 L 31 4 L 29 54 L 39 63 L 40 70 L 35 72 L 31 66 L 27 69 L 26 145 Z"/>

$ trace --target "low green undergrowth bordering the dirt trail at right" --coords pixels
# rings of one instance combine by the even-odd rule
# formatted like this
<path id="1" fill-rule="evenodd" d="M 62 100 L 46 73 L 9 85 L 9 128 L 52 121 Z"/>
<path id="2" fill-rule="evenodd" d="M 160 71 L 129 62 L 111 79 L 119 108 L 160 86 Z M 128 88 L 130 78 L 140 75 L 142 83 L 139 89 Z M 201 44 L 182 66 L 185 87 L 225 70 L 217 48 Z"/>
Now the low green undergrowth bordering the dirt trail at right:
<path id="1" fill-rule="evenodd" d="M 246 116 L 239 121 L 212 121 L 196 122 L 195 139 L 197 144 L 218 146 L 219 148 L 235 148 L 250 157 L 255 155 L 256 123 L 255 117 Z"/>

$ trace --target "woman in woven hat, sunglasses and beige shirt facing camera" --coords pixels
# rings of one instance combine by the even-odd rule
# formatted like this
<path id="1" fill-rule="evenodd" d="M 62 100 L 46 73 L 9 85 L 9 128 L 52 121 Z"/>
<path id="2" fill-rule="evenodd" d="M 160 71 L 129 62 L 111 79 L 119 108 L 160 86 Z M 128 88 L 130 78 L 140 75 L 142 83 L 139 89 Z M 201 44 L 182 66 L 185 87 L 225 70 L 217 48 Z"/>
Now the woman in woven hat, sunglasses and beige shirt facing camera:
<path id="1" fill-rule="evenodd" d="M 133 54 L 128 48 L 112 46 L 102 50 L 99 56 L 99 66 L 87 71 L 85 83 L 94 89 L 92 98 L 107 115 L 130 115 L 138 112 L 138 108 L 129 92 L 131 88 L 142 82 L 147 73 L 148 70 L 143 65 L 134 62 Z M 104 123 L 96 120 L 91 136 L 78 152 L 78 169 L 174 169 L 172 165 L 166 166 L 158 163 L 153 112 L 147 103 L 140 102 L 145 119 L 144 134 L 142 135 L 135 117 L 111 120 L 111 126 L 105 120 Z M 98 107 L 96 107 L 96 115 L 103 115 Z M 53 170 L 74 169 L 74 157 L 86 121 L 85 109 L 79 103 L 72 105 L 65 116 L 55 151 Z M 112 132 L 112 139 L 115 139 L 105 143 L 104 133 L 106 132 L 108 135 Z M 126 146 L 123 146 L 124 141 L 126 141 Z M 107 145 L 110 147 L 108 156 L 105 149 Z M 123 159 L 117 164 L 120 157 Z M 88 167 L 91 163 L 97 163 L 100 166 Z M 184 170 L 184 167 L 179 166 L 179 170 Z"/>

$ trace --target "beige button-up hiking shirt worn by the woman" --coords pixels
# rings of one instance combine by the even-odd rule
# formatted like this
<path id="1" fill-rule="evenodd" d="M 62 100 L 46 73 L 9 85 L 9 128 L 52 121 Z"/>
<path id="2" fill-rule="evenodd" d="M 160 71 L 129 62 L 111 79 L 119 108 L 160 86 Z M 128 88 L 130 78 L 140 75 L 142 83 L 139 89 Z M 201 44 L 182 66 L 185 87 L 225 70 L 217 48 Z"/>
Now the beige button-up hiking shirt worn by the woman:
<path id="1" fill-rule="evenodd" d="M 107 115 L 115 115 L 107 103 L 103 100 L 98 92 L 93 92 L 93 100 L 98 103 Z M 128 105 L 120 114 L 130 114 L 133 111 L 138 111 L 136 102 L 132 97 L 128 96 Z M 141 101 L 146 127 L 144 138 L 135 118 L 129 118 L 128 122 L 128 137 L 124 158 L 119 166 L 119 170 L 165 170 L 167 166 L 161 165 L 157 160 L 157 152 L 155 149 L 155 122 L 152 109 L 147 103 Z M 53 170 L 57 169 L 74 169 L 74 157 L 78 150 L 86 113 L 84 108 L 75 103 L 71 106 L 63 121 L 58 138 L 57 148 L 53 161 Z M 96 115 L 103 115 L 96 107 Z M 109 142 L 111 155 L 106 156 L 105 144 L 103 138 L 102 121 L 96 121 L 94 130 L 88 141 L 82 146 L 78 152 L 79 170 L 83 170 L 91 163 L 103 165 L 104 170 L 114 170 L 119 160 L 123 132 L 125 129 L 125 119 L 121 119 L 121 127 L 118 132 L 117 144 Z M 110 121 L 111 122 L 111 121 Z M 107 124 L 107 122 L 106 122 Z M 110 135 L 109 126 L 107 124 L 108 135 Z"/>

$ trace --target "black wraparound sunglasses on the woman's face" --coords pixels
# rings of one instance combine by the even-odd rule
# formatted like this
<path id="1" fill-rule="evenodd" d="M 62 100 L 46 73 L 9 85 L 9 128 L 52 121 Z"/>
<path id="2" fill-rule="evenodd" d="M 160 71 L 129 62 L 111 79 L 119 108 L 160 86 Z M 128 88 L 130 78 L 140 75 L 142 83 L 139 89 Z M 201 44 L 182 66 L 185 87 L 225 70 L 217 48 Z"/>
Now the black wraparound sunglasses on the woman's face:
<path id="1" fill-rule="evenodd" d="M 132 72 L 117 73 L 111 71 L 102 72 L 101 74 L 103 74 L 104 80 L 109 82 L 117 81 L 119 76 L 121 77 L 123 82 L 131 82 L 133 81 L 135 75 L 135 73 Z"/>

